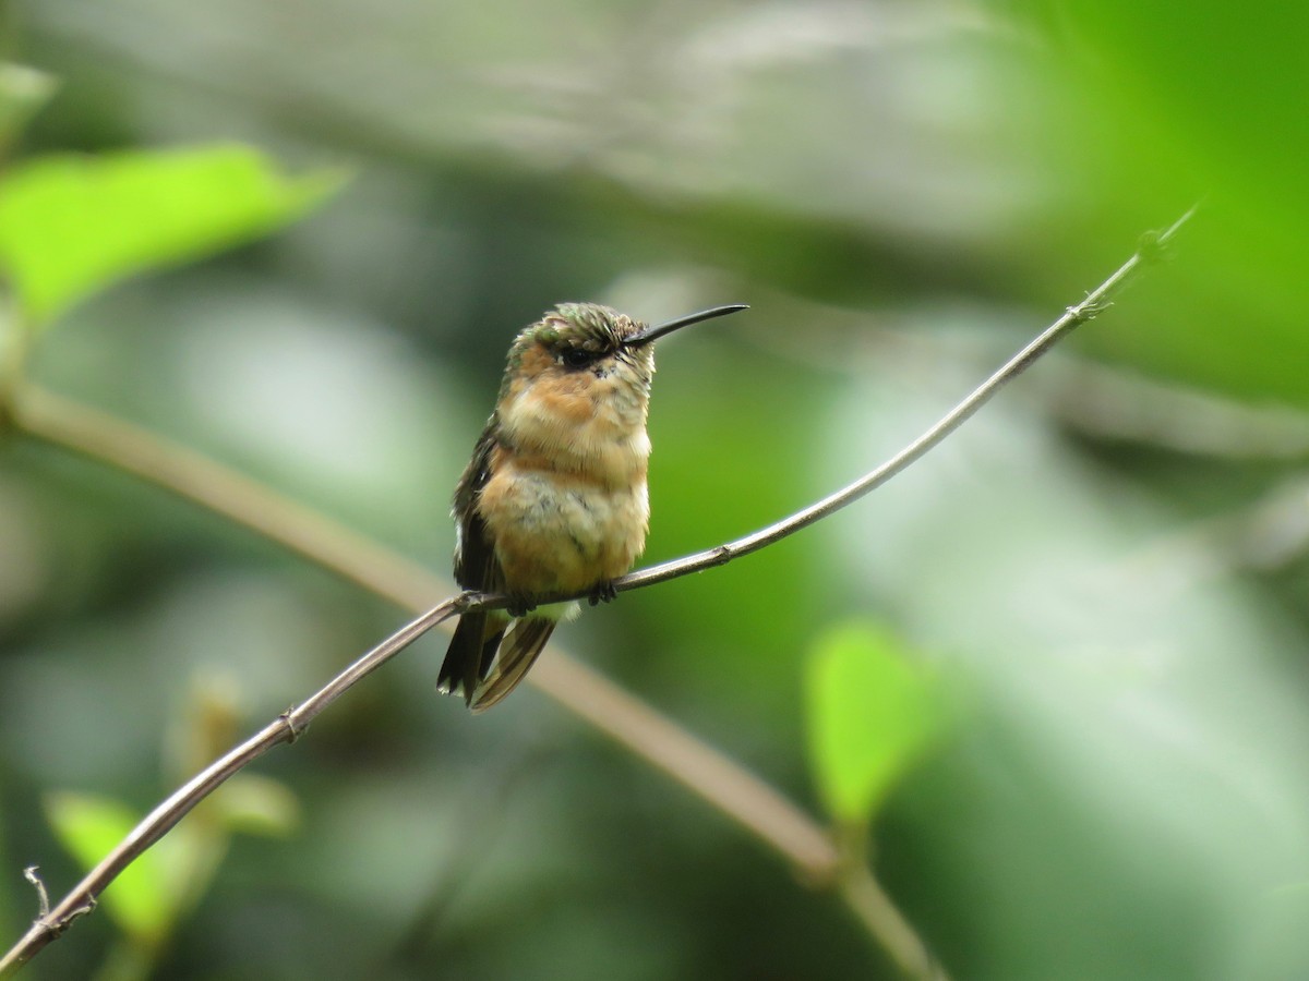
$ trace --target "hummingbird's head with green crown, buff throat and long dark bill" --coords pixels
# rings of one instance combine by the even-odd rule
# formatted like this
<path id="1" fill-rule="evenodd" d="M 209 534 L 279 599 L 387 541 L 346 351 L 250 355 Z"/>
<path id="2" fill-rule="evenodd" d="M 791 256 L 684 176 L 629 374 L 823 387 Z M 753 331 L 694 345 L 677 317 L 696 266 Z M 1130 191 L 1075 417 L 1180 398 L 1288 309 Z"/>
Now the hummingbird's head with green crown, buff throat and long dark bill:
<path id="1" fill-rule="evenodd" d="M 559 303 L 509 349 L 496 403 L 504 434 L 542 453 L 588 459 L 630 443 L 644 464 L 653 341 L 744 309 L 721 306 L 648 327 L 600 303 Z"/>

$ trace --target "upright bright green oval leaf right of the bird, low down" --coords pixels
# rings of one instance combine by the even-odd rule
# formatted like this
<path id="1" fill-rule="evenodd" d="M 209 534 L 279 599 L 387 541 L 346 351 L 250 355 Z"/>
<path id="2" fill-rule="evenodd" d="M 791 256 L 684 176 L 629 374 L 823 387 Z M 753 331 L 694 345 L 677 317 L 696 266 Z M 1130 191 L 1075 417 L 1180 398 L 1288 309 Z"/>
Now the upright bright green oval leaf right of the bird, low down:
<path id="1" fill-rule="evenodd" d="M 857 623 L 817 642 L 806 689 L 809 748 L 827 808 L 838 821 L 867 823 L 940 735 L 939 687 L 898 638 Z"/>

